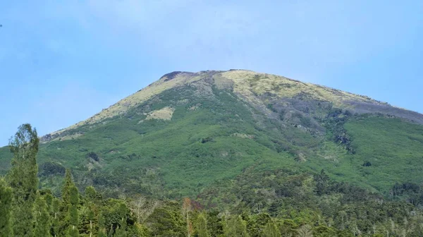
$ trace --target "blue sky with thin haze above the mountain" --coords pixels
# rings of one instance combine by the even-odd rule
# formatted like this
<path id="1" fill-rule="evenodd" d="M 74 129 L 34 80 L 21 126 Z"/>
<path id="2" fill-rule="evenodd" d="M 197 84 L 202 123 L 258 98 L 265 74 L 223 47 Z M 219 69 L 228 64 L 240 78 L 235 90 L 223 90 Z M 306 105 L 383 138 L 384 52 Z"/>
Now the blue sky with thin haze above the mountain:
<path id="1" fill-rule="evenodd" d="M 423 1 L 1 1 L 0 145 L 171 71 L 243 68 L 423 112 Z"/>

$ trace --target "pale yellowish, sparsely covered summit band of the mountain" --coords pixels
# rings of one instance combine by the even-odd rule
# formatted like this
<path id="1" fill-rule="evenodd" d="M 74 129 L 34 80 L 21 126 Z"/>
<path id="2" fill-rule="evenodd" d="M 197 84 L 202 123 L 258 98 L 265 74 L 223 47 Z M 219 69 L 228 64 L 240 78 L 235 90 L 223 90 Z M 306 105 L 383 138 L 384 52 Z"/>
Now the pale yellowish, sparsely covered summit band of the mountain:
<path id="1" fill-rule="evenodd" d="M 201 88 L 217 87 L 221 90 L 230 90 L 265 114 L 271 114 L 271 111 L 266 108 L 269 103 L 288 101 L 291 103 L 297 101 L 297 104 L 300 102 L 307 104 L 310 101 L 314 101 L 330 103 L 334 107 L 350 109 L 354 113 L 390 114 L 416 123 L 423 123 L 422 114 L 392 107 L 385 102 L 379 102 L 367 96 L 355 95 L 312 83 L 302 83 L 280 75 L 257 73 L 244 69 L 199 71 L 197 73 L 173 71 L 161 76 L 159 80 L 135 92 L 133 95 L 121 99 L 111 107 L 103 109 L 90 119 L 51 133 L 48 139 L 44 137 L 44 140 L 60 137 L 63 132 L 80 126 L 92 125 L 104 119 L 125 114 L 129 109 L 137 107 L 166 90 L 186 85 L 199 85 L 199 83 Z"/>

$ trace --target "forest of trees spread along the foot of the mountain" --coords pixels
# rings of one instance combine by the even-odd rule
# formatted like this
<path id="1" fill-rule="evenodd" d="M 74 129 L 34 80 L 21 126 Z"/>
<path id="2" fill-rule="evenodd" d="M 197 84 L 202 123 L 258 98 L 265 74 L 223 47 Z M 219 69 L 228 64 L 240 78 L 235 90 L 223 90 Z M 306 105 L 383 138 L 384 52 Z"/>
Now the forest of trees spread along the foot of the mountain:
<path id="1" fill-rule="evenodd" d="M 0 236 L 423 236 L 422 188 L 397 183 L 391 198 L 318 174 L 279 169 L 222 181 L 195 198 L 83 193 L 66 169 L 61 195 L 39 188 L 37 130 L 11 138 L 0 180 Z M 273 190 L 271 193 L 270 190 Z"/>

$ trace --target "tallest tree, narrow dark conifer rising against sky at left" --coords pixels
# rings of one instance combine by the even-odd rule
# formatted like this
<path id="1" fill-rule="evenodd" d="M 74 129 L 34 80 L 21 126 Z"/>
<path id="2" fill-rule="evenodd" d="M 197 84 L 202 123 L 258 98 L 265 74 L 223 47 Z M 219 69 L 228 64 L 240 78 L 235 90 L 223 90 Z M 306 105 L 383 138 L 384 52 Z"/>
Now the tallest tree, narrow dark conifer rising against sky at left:
<path id="1" fill-rule="evenodd" d="M 38 188 L 38 145 L 37 130 L 29 123 L 19 126 L 9 141 L 13 159 L 7 178 L 13 191 L 13 236 L 32 236 L 32 208 Z"/>

